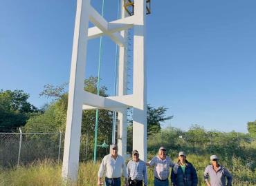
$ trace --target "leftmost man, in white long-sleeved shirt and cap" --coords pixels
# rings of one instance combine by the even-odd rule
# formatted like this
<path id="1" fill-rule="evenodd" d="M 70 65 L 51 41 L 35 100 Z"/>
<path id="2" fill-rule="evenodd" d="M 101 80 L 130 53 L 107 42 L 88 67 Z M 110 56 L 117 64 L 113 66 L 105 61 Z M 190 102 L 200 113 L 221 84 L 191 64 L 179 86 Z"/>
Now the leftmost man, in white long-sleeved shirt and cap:
<path id="1" fill-rule="evenodd" d="M 98 186 L 103 185 L 102 177 L 105 175 L 106 186 L 120 186 L 120 177 L 125 177 L 125 185 L 128 186 L 127 169 L 125 160 L 118 155 L 118 146 L 110 145 L 110 154 L 104 156 L 98 172 Z"/>

